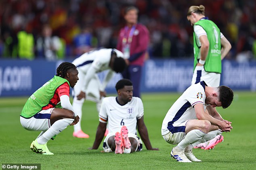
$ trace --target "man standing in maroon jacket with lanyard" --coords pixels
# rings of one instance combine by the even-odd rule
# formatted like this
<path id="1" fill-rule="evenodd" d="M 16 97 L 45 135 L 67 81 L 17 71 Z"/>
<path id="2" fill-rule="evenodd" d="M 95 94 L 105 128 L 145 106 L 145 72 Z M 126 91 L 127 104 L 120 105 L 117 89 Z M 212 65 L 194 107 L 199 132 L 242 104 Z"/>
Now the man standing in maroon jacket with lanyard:
<path id="1" fill-rule="evenodd" d="M 122 72 L 123 78 L 133 82 L 133 96 L 141 97 L 141 73 L 149 44 L 149 31 L 144 25 L 137 23 L 138 9 L 136 7 L 126 8 L 124 18 L 127 24 L 120 31 L 116 49 L 124 53 L 128 65 Z"/>

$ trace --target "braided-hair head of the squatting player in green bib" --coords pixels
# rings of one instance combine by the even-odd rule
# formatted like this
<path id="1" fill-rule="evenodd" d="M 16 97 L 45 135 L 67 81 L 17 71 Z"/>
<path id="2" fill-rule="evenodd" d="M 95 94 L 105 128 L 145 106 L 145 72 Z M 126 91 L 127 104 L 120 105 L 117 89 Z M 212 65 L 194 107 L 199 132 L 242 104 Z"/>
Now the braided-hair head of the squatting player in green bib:
<path id="1" fill-rule="evenodd" d="M 76 66 L 69 62 L 63 62 L 59 65 L 56 76 L 67 79 L 71 87 L 74 87 L 79 80 Z"/>

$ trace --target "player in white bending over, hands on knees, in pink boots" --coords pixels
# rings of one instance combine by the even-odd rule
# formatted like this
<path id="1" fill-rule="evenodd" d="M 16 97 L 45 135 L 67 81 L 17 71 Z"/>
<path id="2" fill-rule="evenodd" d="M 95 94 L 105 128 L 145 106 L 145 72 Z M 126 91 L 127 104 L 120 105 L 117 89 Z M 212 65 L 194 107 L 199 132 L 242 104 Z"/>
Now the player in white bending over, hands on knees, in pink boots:
<path id="1" fill-rule="evenodd" d="M 103 97 L 106 96 L 105 88 L 111 80 L 114 72 L 122 72 L 126 68 L 124 55 L 117 49 L 99 49 L 84 53 L 73 61 L 79 71 L 79 81 L 74 87 L 75 97 L 73 108 L 80 119 L 82 118 L 82 106 L 84 100 L 96 102 L 97 110 L 101 108 Z M 97 73 L 108 70 L 103 82 L 99 80 Z M 81 129 L 81 121 L 74 125 L 74 137 L 88 138 L 89 135 Z"/>

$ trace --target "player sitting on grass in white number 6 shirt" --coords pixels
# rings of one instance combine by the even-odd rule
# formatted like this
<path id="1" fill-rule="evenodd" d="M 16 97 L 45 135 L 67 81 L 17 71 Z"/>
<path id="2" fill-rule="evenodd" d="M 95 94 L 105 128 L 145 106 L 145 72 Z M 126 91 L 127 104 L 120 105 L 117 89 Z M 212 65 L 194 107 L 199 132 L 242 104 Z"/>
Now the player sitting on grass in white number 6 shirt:
<path id="1" fill-rule="evenodd" d="M 115 89 L 118 93 L 117 97 L 103 99 L 99 113 L 100 123 L 90 149 L 98 149 L 108 123 L 109 134 L 103 143 L 104 152 L 115 151 L 115 154 L 128 154 L 140 151 L 142 150 L 141 139 L 147 150 L 158 150 L 153 148 L 149 141 L 147 127 L 143 121 L 143 103 L 140 98 L 132 97 L 132 82 L 128 79 L 119 80 Z M 136 127 L 141 139 L 137 136 Z"/>

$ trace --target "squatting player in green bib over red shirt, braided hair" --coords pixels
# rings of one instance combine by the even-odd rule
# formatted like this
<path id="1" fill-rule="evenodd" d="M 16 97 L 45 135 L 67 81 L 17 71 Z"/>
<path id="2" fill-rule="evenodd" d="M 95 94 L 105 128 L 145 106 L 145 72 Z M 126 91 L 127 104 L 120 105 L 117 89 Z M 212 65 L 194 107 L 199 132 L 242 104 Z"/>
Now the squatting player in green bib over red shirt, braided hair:
<path id="1" fill-rule="evenodd" d="M 63 131 L 68 125 L 75 125 L 75 115 L 69 101 L 69 88 L 78 81 L 78 70 L 72 63 L 63 62 L 57 74 L 34 92 L 23 107 L 21 125 L 29 131 L 42 131 L 31 143 L 30 149 L 43 155 L 53 155 L 47 142 Z M 62 108 L 61 108 L 62 107 Z"/>

